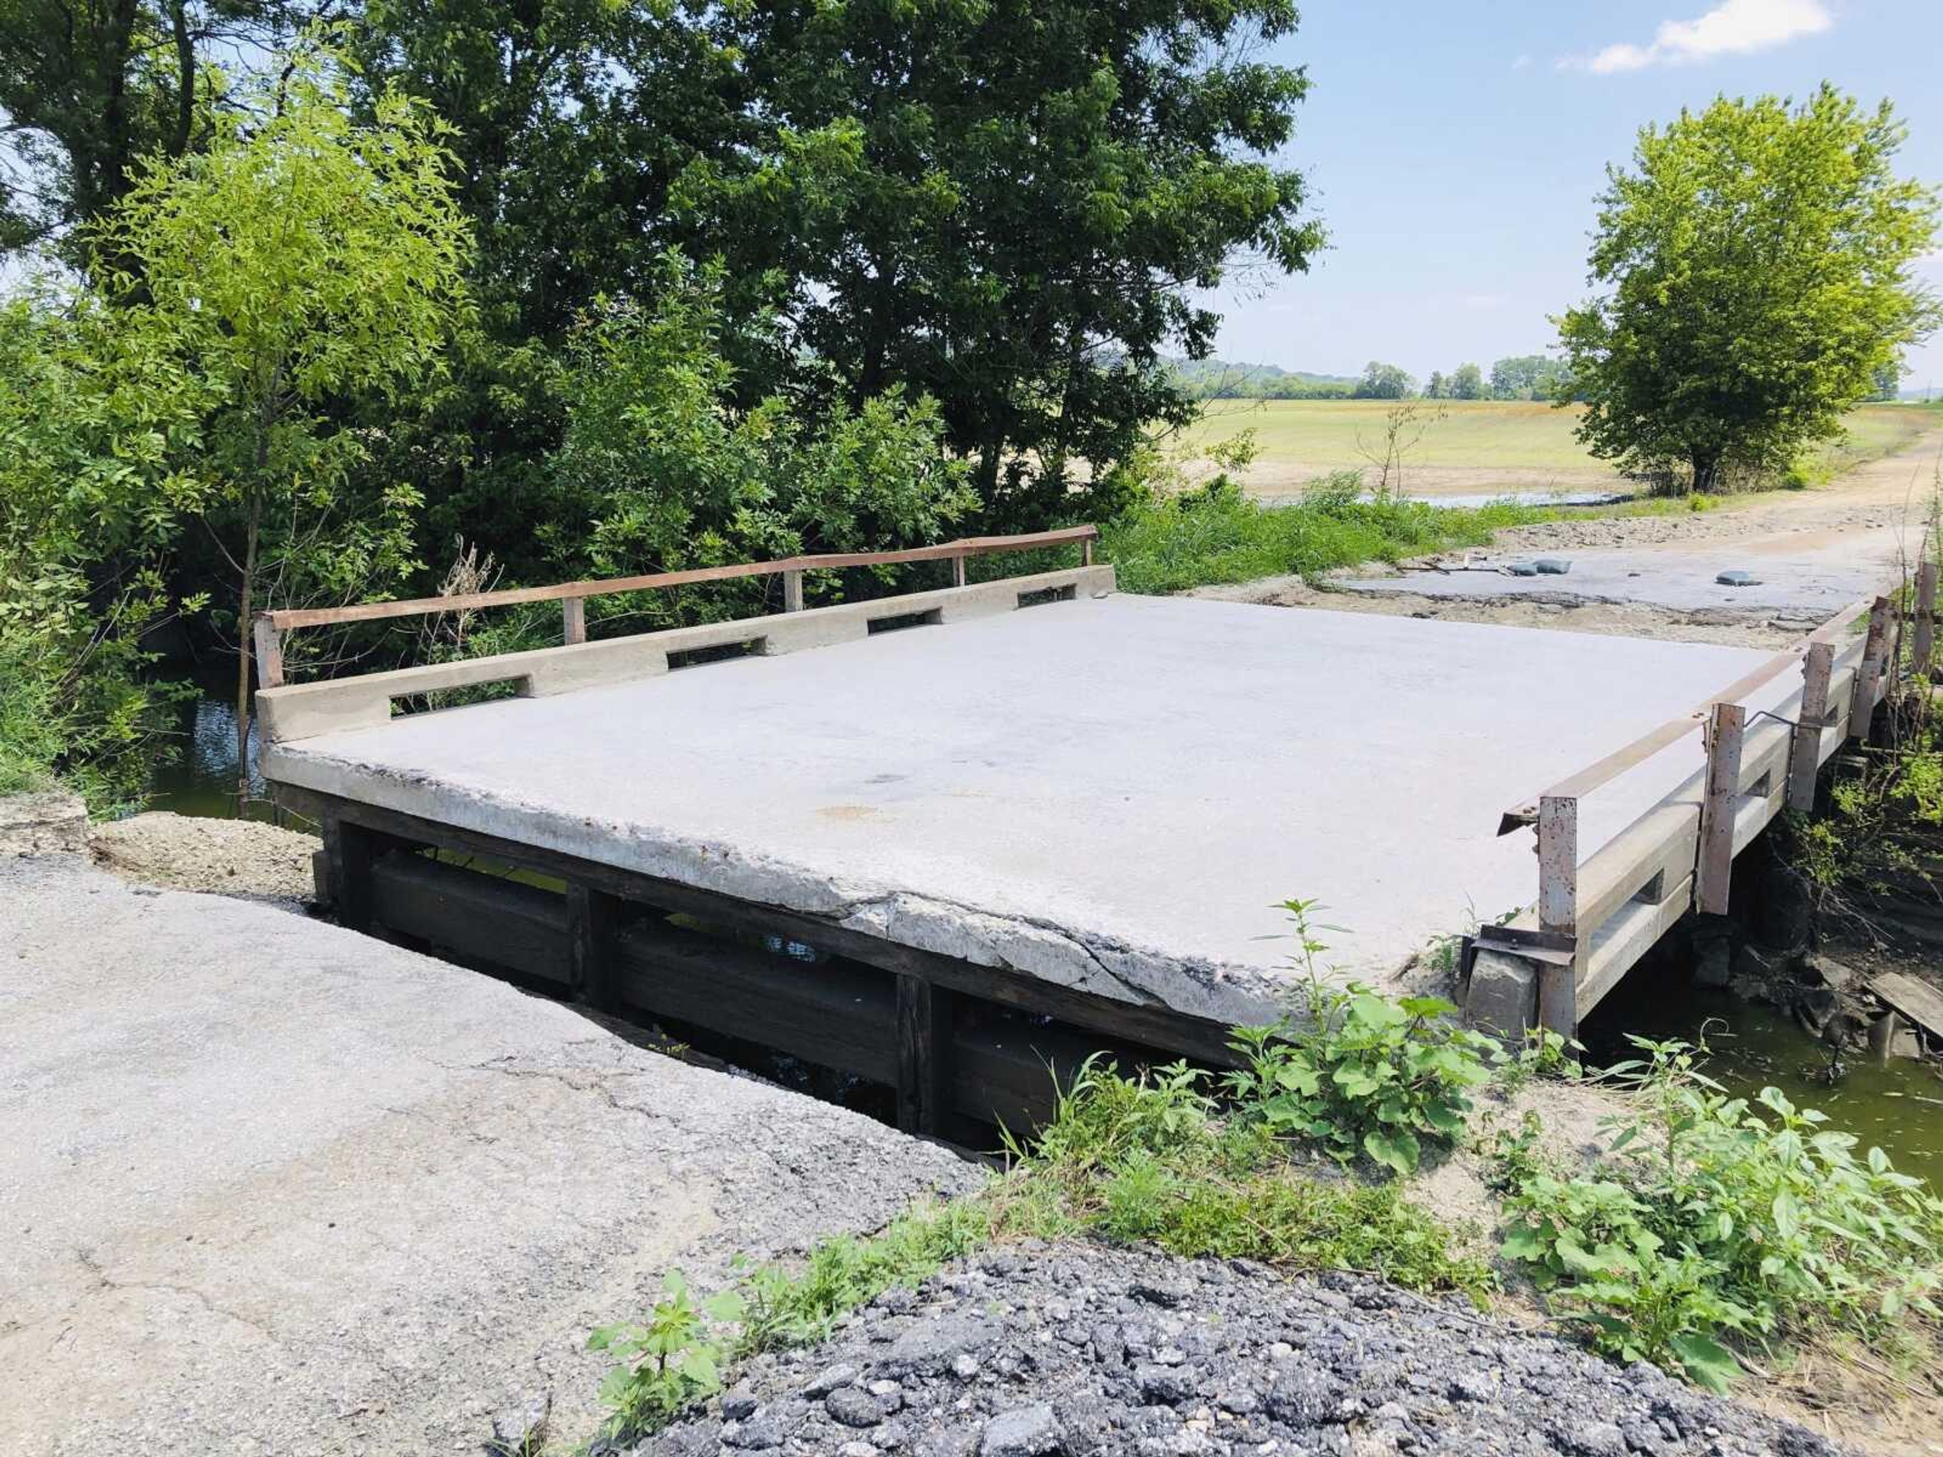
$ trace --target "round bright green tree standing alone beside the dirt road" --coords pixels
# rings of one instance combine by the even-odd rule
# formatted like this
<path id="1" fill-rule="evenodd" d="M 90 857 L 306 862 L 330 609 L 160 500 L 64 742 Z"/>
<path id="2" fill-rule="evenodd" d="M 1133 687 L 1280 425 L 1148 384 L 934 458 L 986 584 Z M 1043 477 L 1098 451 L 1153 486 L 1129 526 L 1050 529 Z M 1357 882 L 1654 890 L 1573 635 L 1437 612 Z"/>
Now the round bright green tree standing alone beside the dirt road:
<path id="1" fill-rule="evenodd" d="M 1937 322 L 1910 272 L 1937 194 L 1894 175 L 1902 140 L 1887 101 L 1863 111 L 1828 85 L 1644 128 L 1599 198 L 1607 293 L 1556 321 L 1587 449 L 1704 491 L 1840 435 L 1875 371 Z"/>

